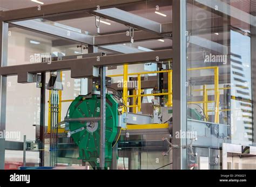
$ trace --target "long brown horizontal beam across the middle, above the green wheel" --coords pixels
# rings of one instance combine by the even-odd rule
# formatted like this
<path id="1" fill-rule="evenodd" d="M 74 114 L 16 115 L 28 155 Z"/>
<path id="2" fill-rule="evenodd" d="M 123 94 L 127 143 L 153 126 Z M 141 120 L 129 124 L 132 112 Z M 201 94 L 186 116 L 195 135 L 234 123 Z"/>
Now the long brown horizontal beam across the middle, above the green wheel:
<path id="1" fill-rule="evenodd" d="M 95 56 L 96 54 L 88 54 Z M 102 54 L 103 55 L 103 54 Z M 161 50 L 152 52 L 132 53 L 132 54 L 117 54 L 96 57 L 86 57 L 82 59 L 71 59 L 62 61 L 53 61 L 51 63 L 32 63 L 17 66 L 7 66 L 0 68 L 0 75 L 11 76 L 27 76 L 30 74 L 57 71 L 71 70 L 72 78 L 92 77 L 95 67 L 102 66 L 117 66 L 123 64 L 153 62 L 172 59 L 172 50 Z M 86 68 L 83 68 L 86 67 Z"/>

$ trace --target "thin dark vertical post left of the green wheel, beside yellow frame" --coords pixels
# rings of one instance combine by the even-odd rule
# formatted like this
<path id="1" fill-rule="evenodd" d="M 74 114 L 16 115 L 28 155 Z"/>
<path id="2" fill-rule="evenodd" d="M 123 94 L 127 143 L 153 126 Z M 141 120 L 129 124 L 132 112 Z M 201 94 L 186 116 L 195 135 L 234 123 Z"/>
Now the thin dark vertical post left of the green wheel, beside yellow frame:
<path id="1" fill-rule="evenodd" d="M 39 139 L 41 141 L 40 143 L 40 150 L 39 150 L 39 158 L 40 163 L 39 166 L 44 166 L 44 131 L 45 131 L 45 73 L 41 73 L 41 105 L 40 105 L 40 136 Z"/>

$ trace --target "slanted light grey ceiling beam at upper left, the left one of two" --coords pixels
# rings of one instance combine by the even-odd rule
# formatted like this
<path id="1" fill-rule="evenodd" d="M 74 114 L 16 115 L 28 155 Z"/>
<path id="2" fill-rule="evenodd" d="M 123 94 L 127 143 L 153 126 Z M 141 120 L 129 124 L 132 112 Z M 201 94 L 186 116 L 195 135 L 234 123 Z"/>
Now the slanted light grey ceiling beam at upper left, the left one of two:
<path id="1" fill-rule="evenodd" d="M 65 28 L 53 26 L 50 24 L 43 23 L 38 20 L 24 20 L 13 22 L 12 25 L 24 28 L 26 30 L 36 31 L 43 34 L 52 35 L 54 37 L 60 37 L 77 41 L 79 43 L 93 45 L 93 37 L 90 35 L 78 33 L 75 31 L 67 30 Z"/>

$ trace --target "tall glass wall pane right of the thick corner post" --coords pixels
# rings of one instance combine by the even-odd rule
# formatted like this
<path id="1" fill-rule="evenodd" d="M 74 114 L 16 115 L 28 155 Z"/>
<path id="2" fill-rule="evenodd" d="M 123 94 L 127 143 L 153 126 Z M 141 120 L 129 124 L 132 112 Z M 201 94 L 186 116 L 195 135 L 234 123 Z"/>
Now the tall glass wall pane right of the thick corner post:
<path id="1" fill-rule="evenodd" d="M 187 169 L 220 169 L 223 143 L 255 145 L 255 8 L 253 0 L 187 1 Z"/>

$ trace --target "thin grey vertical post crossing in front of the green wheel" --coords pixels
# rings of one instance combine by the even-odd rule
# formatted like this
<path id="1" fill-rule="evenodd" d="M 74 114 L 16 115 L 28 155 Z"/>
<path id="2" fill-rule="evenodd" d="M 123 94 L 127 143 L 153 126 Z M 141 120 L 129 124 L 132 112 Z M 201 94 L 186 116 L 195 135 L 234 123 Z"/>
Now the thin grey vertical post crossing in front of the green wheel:
<path id="1" fill-rule="evenodd" d="M 106 67 L 100 68 L 100 169 L 105 168 L 106 130 Z"/>

